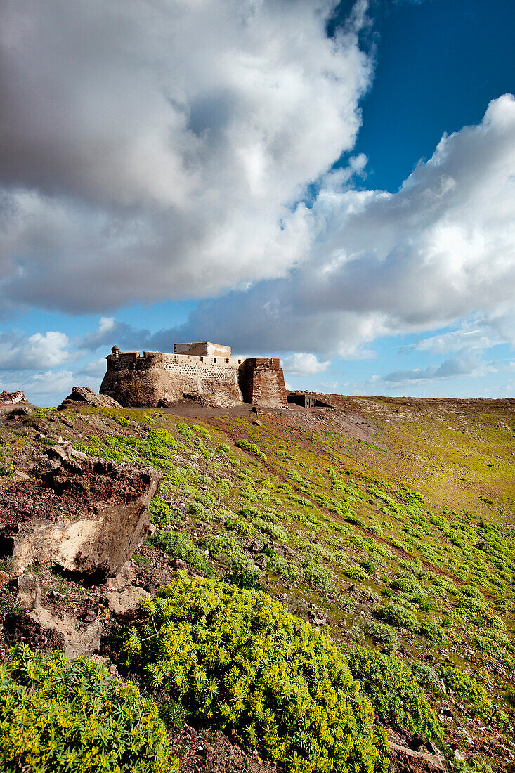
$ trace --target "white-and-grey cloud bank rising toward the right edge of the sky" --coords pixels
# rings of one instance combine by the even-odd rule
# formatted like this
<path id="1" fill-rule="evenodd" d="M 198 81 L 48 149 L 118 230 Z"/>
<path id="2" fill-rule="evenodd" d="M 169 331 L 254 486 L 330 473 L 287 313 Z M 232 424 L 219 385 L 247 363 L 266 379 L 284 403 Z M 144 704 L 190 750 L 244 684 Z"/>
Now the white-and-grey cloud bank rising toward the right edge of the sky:
<path id="1" fill-rule="evenodd" d="M 346 357 L 378 335 L 474 312 L 491 328 L 500 322 L 515 287 L 513 96 L 493 100 L 479 125 L 444 135 L 397 193 L 338 191 L 331 178 L 312 209 L 309 261 L 288 278 L 201 302 L 169 338 L 207 330 L 244 349 Z M 504 328 L 513 335 L 513 315 Z"/>

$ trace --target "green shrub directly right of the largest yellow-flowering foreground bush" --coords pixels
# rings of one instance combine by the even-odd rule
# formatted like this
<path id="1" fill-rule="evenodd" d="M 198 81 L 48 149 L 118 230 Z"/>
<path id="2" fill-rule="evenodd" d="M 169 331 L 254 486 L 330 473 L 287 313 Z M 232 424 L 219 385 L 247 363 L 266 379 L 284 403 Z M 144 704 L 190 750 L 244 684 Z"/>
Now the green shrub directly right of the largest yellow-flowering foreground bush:
<path id="1" fill-rule="evenodd" d="M 401 659 L 374 649 L 346 650 L 349 668 L 376 713 L 393 727 L 438 741 L 442 729 L 424 691 Z"/>

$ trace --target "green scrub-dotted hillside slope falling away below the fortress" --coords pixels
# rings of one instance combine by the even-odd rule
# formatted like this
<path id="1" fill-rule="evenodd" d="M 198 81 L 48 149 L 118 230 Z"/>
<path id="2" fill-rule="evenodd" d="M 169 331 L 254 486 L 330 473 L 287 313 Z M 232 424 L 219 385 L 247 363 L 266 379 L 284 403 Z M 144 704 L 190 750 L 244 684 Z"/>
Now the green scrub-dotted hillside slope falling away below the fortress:
<path id="1" fill-rule="evenodd" d="M 333 407 L 5 412 L 4 511 L 53 444 L 160 469 L 138 587 L 155 594 L 180 570 L 261 587 L 343 649 L 392 744 L 434 748 L 395 700 L 398 658 L 435 710 L 445 764 L 512 770 L 515 401 L 320 399 Z M 101 601 L 94 584 L 36 572 L 49 604 L 80 615 Z M 121 628 L 106 618 L 113 662 Z M 409 768 L 422 755 L 404 764 L 426 769 Z"/>

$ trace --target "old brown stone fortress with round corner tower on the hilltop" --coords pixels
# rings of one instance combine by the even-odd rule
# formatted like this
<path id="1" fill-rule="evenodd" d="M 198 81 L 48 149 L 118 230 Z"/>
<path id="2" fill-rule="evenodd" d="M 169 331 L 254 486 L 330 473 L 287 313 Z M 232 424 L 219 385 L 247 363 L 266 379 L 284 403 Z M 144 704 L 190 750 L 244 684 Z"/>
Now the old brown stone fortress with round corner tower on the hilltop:
<path id="1" fill-rule="evenodd" d="M 159 407 L 188 399 L 288 407 L 277 358 L 235 359 L 230 346 L 203 341 L 176 343 L 173 354 L 143 352 L 143 356 L 113 346 L 106 359 L 100 392 L 124 407 Z"/>

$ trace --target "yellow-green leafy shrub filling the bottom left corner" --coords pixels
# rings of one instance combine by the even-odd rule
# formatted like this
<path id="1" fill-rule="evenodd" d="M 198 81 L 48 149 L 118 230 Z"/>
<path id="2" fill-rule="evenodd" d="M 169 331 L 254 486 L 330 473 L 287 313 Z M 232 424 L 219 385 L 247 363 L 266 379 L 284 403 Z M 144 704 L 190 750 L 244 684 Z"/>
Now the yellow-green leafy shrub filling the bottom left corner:
<path id="1" fill-rule="evenodd" d="M 2 771 L 171 773 L 178 771 L 152 700 L 105 666 L 27 645 L 0 666 Z"/>

